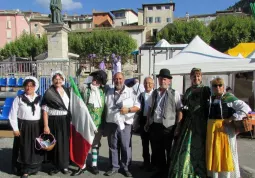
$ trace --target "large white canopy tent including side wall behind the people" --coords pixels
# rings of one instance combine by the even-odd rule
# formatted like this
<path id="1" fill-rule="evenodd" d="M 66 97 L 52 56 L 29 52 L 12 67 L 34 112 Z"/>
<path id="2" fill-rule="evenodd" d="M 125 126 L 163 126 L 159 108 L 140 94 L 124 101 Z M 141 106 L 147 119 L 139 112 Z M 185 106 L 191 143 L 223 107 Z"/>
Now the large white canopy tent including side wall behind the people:
<path id="1" fill-rule="evenodd" d="M 158 61 L 158 59 L 155 61 Z M 186 48 L 173 58 L 156 62 L 153 73 L 158 74 L 162 68 L 169 69 L 171 74 L 174 75 L 173 88 L 182 93 L 190 86 L 189 73 L 194 67 L 201 68 L 204 74 L 204 84 L 208 85 L 212 77 L 220 75 L 224 78 L 226 85 L 234 89 L 235 75 L 232 74 L 254 71 L 255 59 L 252 61 L 252 59 L 233 57 L 221 53 L 207 45 L 199 36 L 196 36 Z"/>

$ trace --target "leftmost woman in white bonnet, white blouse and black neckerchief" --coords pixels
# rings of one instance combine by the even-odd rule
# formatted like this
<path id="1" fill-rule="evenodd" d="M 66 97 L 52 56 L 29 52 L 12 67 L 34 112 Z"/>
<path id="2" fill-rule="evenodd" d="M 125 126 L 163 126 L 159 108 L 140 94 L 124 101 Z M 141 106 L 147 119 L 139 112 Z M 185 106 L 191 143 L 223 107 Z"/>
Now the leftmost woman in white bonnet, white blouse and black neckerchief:
<path id="1" fill-rule="evenodd" d="M 14 99 L 9 120 L 14 134 L 12 167 L 21 178 L 27 178 L 40 170 L 43 161 L 42 151 L 35 148 L 35 139 L 42 131 L 41 97 L 36 94 L 39 82 L 35 77 L 26 77 L 23 86 L 25 93 Z"/>

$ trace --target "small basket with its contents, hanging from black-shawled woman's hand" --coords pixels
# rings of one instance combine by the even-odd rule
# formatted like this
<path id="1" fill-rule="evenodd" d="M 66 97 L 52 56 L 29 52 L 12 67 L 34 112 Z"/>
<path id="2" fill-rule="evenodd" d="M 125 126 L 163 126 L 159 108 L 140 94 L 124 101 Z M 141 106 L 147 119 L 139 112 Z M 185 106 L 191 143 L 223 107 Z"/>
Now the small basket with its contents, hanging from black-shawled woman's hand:
<path id="1" fill-rule="evenodd" d="M 35 139 L 37 150 L 51 151 L 56 145 L 56 139 L 52 134 L 41 134 Z"/>

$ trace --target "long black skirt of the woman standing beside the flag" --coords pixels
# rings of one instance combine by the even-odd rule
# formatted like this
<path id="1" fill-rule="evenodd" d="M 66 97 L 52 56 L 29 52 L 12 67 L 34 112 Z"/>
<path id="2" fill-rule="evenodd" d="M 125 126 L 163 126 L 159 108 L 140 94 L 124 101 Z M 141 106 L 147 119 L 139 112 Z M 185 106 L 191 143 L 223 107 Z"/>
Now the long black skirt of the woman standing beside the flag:
<path id="1" fill-rule="evenodd" d="M 69 165 L 70 119 L 68 116 L 49 116 L 50 132 L 56 139 L 55 147 L 47 152 L 49 160 L 56 169 L 65 169 Z"/>

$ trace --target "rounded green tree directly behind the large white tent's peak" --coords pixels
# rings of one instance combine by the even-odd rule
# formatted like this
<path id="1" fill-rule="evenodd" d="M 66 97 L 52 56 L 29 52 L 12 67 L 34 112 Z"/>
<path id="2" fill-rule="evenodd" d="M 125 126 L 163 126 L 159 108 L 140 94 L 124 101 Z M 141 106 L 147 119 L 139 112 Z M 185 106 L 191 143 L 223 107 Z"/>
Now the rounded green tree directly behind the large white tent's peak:
<path id="1" fill-rule="evenodd" d="M 175 21 L 157 34 L 157 41 L 165 39 L 172 44 L 190 43 L 196 35 L 199 35 L 205 42 L 210 42 L 211 31 L 202 22 L 198 20 Z"/>

